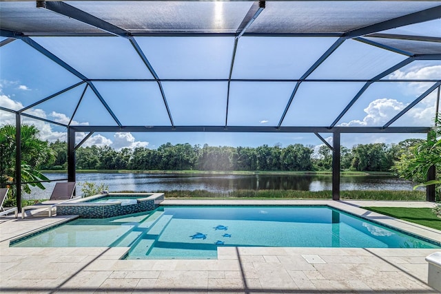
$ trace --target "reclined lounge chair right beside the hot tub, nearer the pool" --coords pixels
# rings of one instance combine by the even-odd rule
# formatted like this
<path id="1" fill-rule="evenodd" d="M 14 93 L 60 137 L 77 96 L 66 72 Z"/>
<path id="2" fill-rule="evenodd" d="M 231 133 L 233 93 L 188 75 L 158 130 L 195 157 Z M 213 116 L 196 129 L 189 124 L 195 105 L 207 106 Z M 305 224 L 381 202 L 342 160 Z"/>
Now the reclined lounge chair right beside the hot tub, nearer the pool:
<path id="1" fill-rule="evenodd" d="M 52 208 L 54 208 L 57 204 L 73 199 L 72 197 L 74 196 L 75 185 L 76 182 L 57 182 L 49 200 L 21 208 L 21 218 L 25 218 L 25 211 L 28 209 L 48 209 L 49 216 L 52 216 Z"/>

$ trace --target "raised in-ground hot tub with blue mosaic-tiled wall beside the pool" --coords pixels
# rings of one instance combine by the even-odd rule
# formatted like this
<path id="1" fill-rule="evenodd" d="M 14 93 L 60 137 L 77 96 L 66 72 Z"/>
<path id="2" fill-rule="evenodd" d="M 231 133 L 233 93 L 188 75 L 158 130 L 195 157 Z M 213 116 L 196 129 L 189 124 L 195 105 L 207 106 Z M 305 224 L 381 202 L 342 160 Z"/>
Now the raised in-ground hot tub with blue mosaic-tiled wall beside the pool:
<path id="1" fill-rule="evenodd" d="M 151 211 L 164 200 L 164 193 L 107 193 L 57 204 L 57 216 L 113 218 Z"/>

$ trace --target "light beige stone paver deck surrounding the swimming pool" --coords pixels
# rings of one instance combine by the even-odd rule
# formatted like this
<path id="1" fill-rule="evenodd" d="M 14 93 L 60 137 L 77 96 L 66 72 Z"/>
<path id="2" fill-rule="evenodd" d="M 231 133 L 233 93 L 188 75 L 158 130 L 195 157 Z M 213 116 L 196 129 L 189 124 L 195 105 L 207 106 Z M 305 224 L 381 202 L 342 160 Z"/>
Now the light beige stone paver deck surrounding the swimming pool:
<path id="1" fill-rule="evenodd" d="M 166 200 L 164 204 L 182 204 Z M 328 204 L 441 242 L 428 229 L 330 200 L 185 204 Z M 393 206 L 431 207 L 428 202 Z M 219 247 L 218 260 L 121 260 L 128 248 L 19 248 L 9 240 L 70 217 L 0 218 L 1 293 L 438 293 L 424 258 L 440 249 Z"/>

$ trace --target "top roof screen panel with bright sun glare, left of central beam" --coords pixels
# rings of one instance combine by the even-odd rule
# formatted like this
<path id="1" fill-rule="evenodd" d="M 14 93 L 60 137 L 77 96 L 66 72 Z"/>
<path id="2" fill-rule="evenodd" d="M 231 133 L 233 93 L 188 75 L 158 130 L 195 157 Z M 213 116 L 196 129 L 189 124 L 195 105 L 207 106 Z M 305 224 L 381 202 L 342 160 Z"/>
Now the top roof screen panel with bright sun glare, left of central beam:
<path id="1" fill-rule="evenodd" d="M 130 32 L 236 32 L 250 1 L 68 1 Z M 130 15 L 130 17 L 127 17 Z"/>

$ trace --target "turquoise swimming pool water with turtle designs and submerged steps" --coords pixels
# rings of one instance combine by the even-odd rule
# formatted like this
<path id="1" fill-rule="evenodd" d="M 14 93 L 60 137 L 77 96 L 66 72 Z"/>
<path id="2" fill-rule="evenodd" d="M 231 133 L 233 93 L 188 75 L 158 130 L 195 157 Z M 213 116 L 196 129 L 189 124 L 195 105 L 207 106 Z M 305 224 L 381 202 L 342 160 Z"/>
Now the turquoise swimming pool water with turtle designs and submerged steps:
<path id="1" fill-rule="evenodd" d="M 12 246 L 130 246 L 126 259 L 216 259 L 218 246 L 440 248 L 329 207 L 159 207 L 73 220 Z"/>

